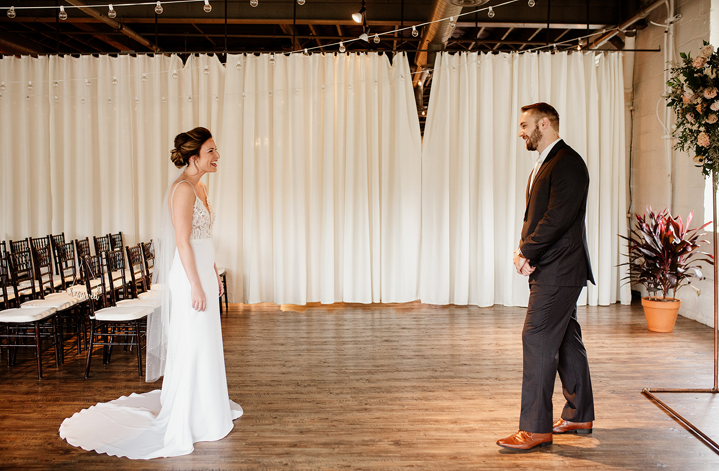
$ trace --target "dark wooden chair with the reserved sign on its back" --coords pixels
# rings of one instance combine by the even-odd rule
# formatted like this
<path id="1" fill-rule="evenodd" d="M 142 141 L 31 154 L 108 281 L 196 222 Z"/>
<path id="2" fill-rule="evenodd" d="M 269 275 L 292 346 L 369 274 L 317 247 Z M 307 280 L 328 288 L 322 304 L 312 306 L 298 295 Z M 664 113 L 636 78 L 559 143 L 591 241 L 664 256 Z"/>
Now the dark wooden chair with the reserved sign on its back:
<path id="1" fill-rule="evenodd" d="M 142 376 L 142 339 L 147 335 L 146 321 L 150 306 L 110 306 L 110 297 L 105 289 L 107 283 L 103 262 L 94 255 L 84 260 L 86 290 L 101 291 L 88 303 L 90 319 L 90 344 L 85 367 L 85 378 L 90 376 L 90 365 L 94 347 L 103 346 L 103 363 L 110 362 L 114 345 L 132 346 L 137 349 L 137 371 Z"/>

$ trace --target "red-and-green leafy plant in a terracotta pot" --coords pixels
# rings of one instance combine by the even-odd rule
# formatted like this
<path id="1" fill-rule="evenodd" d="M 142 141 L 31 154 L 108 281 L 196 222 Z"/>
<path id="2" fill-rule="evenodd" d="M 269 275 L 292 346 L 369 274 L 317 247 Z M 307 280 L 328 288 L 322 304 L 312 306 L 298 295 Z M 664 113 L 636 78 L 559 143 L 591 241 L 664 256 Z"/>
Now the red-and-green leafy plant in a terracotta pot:
<path id="1" fill-rule="evenodd" d="M 697 262 L 714 263 L 713 255 L 699 251 L 699 244 L 707 241 L 698 240 L 705 235 L 700 231 L 711 222 L 689 229 L 694 211 L 687 216 L 686 227 L 681 216 L 672 217 L 669 209 L 652 211 L 648 207 L 647 213 L 636 214 L 636 227 L 629 230 L 629 237 L 620 236 L 628 241 L 628 282 L 644 285 L 649 292 L 649 296 L 641 298 L 649 330 L 671 332 L 682 306 L 676 298 L 677 290 L 689 285 L 700 294 L 690 284 L 691 278 L 704 278 Z"/>

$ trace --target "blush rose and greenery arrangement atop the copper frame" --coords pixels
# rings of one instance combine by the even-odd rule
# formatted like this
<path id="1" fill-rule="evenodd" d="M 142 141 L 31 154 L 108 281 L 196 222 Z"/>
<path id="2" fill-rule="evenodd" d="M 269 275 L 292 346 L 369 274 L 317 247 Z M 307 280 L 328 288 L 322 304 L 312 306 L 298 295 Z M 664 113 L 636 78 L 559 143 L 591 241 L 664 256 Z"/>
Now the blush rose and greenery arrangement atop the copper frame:
<path id="1" fill-rule="evenodd" d="M 719 171 L 719 54 L 704 41 L 697 57 L 681 52 L 669 69 L 671 88 L 664 96 L 676 118 L 675 149 L 694 151 L 704 175 Z"/>

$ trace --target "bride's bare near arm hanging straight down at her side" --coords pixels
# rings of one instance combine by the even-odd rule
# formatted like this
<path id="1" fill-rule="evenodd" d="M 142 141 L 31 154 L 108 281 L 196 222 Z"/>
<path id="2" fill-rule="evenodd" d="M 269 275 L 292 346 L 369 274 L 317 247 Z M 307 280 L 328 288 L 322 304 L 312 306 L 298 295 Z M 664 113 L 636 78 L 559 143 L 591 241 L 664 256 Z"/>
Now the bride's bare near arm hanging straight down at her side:
<path id="1" fill-rule="evenodd" d="M 207 306 L 205 292 L 200 284 L 200 276 L 197 274 L 195 265 L 195 254 L 190 245 L 195 198 L 195 192 L 189 183 L 178 183 L 173 194 L 172 208 L 175 219 L 175 242 L 180 254 L 180 261 L 192 288 L 192 308 L 196 311 L 204 311 Z"/>

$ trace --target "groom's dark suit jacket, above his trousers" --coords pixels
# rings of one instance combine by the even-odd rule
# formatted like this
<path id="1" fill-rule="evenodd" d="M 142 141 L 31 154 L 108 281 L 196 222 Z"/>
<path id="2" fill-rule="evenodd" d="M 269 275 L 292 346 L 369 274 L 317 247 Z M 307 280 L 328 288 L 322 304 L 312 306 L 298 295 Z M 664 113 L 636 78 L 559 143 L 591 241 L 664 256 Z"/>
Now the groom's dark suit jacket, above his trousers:
<path id="1" fill-rule="evenodd" d="M 531 175 L 530 175 L 531 178 Z M 529 188 L 519 249 L 536 270 L 529 283 L 584 286 L 594 282 L 587 249 L 589 172 L 563 140 L 544 159 Z"/>

